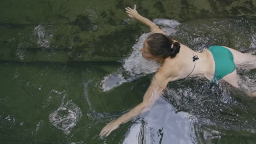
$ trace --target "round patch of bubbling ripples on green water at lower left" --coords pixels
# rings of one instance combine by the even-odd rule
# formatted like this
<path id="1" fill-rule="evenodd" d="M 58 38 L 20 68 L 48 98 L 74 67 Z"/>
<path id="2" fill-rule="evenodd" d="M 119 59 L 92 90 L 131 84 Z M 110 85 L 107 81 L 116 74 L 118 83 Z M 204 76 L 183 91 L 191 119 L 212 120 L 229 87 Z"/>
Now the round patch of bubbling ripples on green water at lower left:
<path id="1" fill-rule="evenodd" d="M 57 129 L 69 135 L 70 131 L 77 125 L 81 117 L 82 111 L 80 108 L 75 105 L 73 101 L 68 100 L 65 105 L 62 103 L 56 111 L 51 113 L 49 119 Z"/>

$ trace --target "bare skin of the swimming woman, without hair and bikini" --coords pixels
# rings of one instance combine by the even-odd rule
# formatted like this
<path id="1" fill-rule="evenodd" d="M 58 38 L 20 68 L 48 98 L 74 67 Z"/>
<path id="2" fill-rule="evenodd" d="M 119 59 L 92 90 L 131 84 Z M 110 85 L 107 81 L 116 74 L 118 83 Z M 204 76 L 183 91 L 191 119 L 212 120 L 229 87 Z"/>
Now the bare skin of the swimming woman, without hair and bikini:
<path id="1" fill-rule="evenodd" d="M 134 9 L 127 7 L 125 10 L 127 15 L 129 15 L 131 18 L 141 21 L 145 25 L 149 26 L 152 33 L 162 33 L 166 35 L 166 33 L 163 32 L 159 26 L 155 25 L 155 23 L 139 15 L 136 11 L 136 5 Z M 176 40 L 173 41 L 176 42 Z M 106 127 L 101 130 L 100 136 L 108 136 L 113 130 L 117 129 L 120 124 L 126 123 L 140 115 L 142 112 L 148 111 L 154 102 L 160 97 L 168 82 L 184 79 L 191 73 L 191 71 L 193 72 L 190 74 L 190 76 L 206 77 L 206 79 L 210 81 L 213 80 L 215 62 L 212 53 L 208 49 L 203 49 L 201 52 L 196 52 L 181 44 L 181 49 L 174 58 L 167 57 L 163 59 L 161 57 L 154 57 L 151 55 L 148 50 L 148 45 L 145 41 L 143 48 L 140 51 L 142 52 L 142 56 L 144 58 L 148 59 L 149 61 L 156 60 L 159 63 L 162 63 L 162 65 L 158 71 L 156 71 L 149 88 L 144 94 L 142 103 L 138 104 L 132 110 L 125 113 L 125 115 L 108 123 Z M 241 52 L 233 49 L 231 49 L 231 52 L 233 55 L 236 55 L 234 56 L 234 62 L 236 65 L 245 65 L 248 61 L 250 61 L 252 62 L 251 68 L 256 68 L 256 56 L 250 56 L 248 58 L 248 53 L 241 54 Z M 196 61 L 195 68 L 195 62 L 193 62 L 192 58 L 193 53 L 199 57 L 199 59 Z M 232 86 L 238 87 L 236 70 L 224 76 L 223 80 L 230 83 Z"/>

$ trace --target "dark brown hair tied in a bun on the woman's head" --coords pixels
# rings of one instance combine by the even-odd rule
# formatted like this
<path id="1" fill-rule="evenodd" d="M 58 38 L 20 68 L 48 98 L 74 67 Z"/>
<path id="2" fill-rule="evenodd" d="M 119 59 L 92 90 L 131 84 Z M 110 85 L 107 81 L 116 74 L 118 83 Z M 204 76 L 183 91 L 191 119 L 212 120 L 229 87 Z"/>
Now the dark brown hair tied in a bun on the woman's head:
<path id="1" fill-rule="evenodd" d="M 181 45 L 176 42 L 173 44 L 173 40 L 161 33 L 153 33 L 147 37 L 147 44 L 149 52 L 155 57 L 172 58 L 179 53 Z M 171 47 L 173 44 L 173 47 Z"/>

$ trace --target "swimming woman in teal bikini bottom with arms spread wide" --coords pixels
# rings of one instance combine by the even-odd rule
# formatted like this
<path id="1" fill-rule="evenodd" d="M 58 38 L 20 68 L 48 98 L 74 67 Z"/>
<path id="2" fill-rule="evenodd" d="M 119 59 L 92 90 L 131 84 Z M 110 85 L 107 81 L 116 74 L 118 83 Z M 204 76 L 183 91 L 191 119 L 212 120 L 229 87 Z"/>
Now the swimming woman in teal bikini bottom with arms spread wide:
<path id="1" fill-rule="evenodd" d="M 107 124 L 101 130 L 100 136 L 108 136 L 120 124 L 126 123 L 142 112 L 149 110 L 170 81 L 196 75 L 206 77 L 212 82 L 224 80 L 238 88 L 236 67 L 256 68 L 256 56 L 251 53 L 241 53 L 225 46 L 210 46 L 209 49 L 195 52 L 176 40 L 168 39 L 166 33 L 158 26 L 137 13 L 136 5 L 134 9 L 129 7 L 125 9 L 131 18 L 149 26 L 150 31 L 153 32 L 144 41 L 143 48 L 140 50 L 142 56 L 148 60 L 155 59 L 162 65 L 156 71 L 144 94 L 142 103 Z M 255 94 L 255 92 L 250 93 L 252 96 Z"/>

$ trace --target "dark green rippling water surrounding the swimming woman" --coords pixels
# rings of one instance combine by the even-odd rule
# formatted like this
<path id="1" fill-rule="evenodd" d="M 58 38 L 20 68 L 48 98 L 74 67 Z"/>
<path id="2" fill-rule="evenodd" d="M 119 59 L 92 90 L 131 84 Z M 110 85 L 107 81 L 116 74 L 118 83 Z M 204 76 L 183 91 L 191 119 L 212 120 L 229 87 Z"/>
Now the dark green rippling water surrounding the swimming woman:
<path id="1" fill-rule="evenodd" d="M 256 143 L 255 100 L 195 79 L 98 136 L 159 67 L 139 55 L 149 29 L 128 19 L 132 4 L 193 50 L 256 50 L 255 1 L 1 1 L 0 143 Z M 256 91 L 255 72 L 239 70 L 239 85 Z"/>

